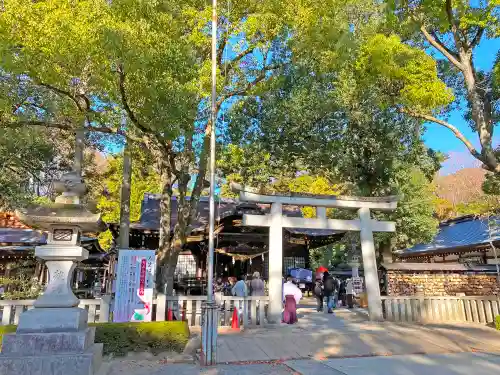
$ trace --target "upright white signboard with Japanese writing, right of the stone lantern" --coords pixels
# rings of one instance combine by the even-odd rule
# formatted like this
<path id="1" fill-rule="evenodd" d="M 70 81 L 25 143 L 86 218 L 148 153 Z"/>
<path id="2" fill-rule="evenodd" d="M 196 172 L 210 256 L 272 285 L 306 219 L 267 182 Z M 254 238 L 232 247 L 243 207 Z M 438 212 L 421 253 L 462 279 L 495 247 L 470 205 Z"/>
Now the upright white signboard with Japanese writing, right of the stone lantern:
<path id="1" fill-rule="evenodd" d="M 119 250 L 113 322 L 150 322 L 156 270 L 154 250 Z"/>

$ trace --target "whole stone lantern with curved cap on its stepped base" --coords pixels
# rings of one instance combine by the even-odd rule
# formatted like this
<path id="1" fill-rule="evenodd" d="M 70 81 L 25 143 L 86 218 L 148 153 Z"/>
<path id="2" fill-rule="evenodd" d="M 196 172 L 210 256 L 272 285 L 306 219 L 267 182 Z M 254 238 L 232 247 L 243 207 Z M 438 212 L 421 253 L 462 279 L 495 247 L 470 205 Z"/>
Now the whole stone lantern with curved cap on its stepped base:
<path id="1" fill-rule="evenodd" d="M 82 204 L 86 188 L 78 172 L 64 175 L 55 190 L 60 195 L 53 204 L 17 212 L 22 222 L 48 232 L 47 244 L 37 246 L 35 256 L 46 261 L 49 283 L 34 308 L 21 314 L 16 333 L 3 336 L 2 375 L 89 375 L 102 359 L 102 344 L 94 344 L 95 328 L 88 327 L 71 281 L 76 263 L 89 255 L 81 234 L 101 232 L 106 225 Z"/>

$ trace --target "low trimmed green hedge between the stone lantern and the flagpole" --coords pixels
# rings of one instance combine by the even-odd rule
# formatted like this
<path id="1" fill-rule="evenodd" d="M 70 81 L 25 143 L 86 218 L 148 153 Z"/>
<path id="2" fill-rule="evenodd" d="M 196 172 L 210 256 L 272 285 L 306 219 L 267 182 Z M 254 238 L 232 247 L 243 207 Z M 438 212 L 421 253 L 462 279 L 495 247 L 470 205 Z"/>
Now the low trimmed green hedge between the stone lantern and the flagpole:
<path id="1" fill-rule="evenodd" d="M 182 352 L 189 339 L 187 322 L 93 323 L 95 342 L 104 344 L 104 354 L 124 356 L 128 352 Z M 0 326 L 0 345 L 4 333 L 15 325 Z M 0 346 L 1 349 L 1 346 Z"/>

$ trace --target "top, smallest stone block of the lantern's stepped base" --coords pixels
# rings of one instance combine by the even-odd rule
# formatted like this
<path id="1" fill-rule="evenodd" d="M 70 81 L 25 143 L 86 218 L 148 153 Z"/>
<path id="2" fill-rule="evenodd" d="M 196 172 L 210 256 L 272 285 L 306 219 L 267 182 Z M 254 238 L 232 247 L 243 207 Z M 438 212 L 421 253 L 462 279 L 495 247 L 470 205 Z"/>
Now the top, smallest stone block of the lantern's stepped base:
<path id="1" fill-rule="evenodd" d="M 87 328 L 88 313 L 78 307 L 35 308 L 19 319 L 17 333 L 78 332 Z"/>

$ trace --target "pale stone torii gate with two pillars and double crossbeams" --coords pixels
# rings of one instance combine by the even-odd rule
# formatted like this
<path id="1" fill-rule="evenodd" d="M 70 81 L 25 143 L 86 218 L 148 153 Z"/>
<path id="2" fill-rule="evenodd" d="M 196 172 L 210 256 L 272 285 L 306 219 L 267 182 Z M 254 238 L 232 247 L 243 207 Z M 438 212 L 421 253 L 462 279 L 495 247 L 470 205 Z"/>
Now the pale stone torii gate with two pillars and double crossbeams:
<path id="1" fill-rule="evenodd" d="M 383 319 L 373 232 L 394 232 L 396 226 L 394 222 L 373 220 L 370 210 L 393 211 L 397 207 L 396 197 L 263 195 L 236 184 L 233 184 L 233 190 L 239 191 L 241 202 L 271 204 L 269 215 L 245 214 L 242 222 L 245 226 L 269 227 L 269 322 L 277 323 L 281 320 L 283 228 L 360 232 L 370 319 Z M 283 205 L 316 207 L 316 218 L 283 216 Z M 355 220 L 327 219 L 326 209 L 331 207 L 357 209 L 359 218 Z"/>

